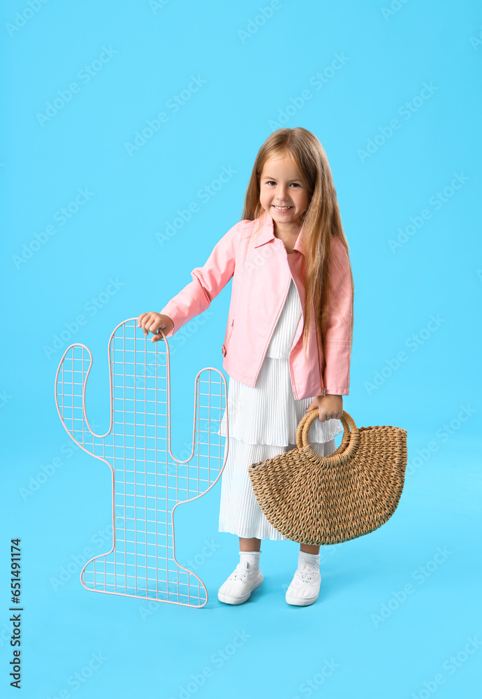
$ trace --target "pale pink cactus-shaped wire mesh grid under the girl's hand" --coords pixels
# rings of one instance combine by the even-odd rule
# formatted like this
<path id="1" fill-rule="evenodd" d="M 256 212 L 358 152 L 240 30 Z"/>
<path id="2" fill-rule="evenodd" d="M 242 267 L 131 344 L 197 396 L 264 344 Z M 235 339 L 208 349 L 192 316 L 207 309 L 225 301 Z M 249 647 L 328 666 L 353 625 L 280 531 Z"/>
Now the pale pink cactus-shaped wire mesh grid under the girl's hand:
<path id="1" fill-rule="evenodd" d="M 212 367 L 196 375 L 192 452 L 177 461 L 170 449 L 169 347 L 163 338 L 152 343 L 137 318 L 112 332 L 110 426 L 103 435 L 92 431 L 85 410 L 89 349 L 71 345 L 59 362 L 55 402 L 62 424 L 112 471 L 112 549 L 87 561 L 80 579 L 96 592 L 203 607 L 205 585 L 175 558 L 174 510 L 212 488 L 224 468 L 226 379 Z M 224 415 L 226 436 L 220 434 Z"/>

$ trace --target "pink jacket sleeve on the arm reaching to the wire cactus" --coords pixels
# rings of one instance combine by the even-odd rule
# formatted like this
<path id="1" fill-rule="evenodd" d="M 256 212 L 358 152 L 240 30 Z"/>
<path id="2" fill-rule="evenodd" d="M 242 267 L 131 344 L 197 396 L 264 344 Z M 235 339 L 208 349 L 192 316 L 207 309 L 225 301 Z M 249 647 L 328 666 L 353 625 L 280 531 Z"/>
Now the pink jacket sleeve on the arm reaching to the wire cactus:
<path id="1" fill-rule="evenodd" d="M 240 222 L 235 224 L 214 248 L 202 267 L 195 267 L 189 282 L 179 294 L 166 303 L 159 311 L 168 315 L 174 323 L 173 329 L 166 335 L 170 338 L 191 318 L 205 311 L 212 299 L 219 294 L 234 274 L 235 249 Z"/>

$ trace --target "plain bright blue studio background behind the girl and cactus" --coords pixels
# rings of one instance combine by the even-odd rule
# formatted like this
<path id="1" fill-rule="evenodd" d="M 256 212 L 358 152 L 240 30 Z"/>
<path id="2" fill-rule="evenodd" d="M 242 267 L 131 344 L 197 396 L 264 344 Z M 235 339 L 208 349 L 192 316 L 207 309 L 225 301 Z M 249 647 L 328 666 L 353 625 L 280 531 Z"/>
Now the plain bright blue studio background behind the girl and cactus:
<path id="1" fill-rule="evenodd" d="M 26 698 L 62 689 L 89 699 L 479 696 L 482 650 L 464 649 L 482 638 L 482 15 L 468 0 L 392 6 L 280 0 L 265 20 L 269 3 L 249 1 L 2 3 L 2 695 L 16 696 L 8 545 L 20 537 Z M 87 82 L 83 66 L 105 48 L 110 59 Z M 331 75 L 335 55 L 346 62 Z M 316 84 L 316 73 L 330 77 Z M 174 111 L 170 100 L 193 76 L 204 82 Z M 78 92 L 48 120 L 39 116 L 72 82 Z M 129 153 L 126 143 L 161 111 L 166 122 Z M 238 560 L 237 538 L 217 531 L 220 482 L 178 510 L 178 555 L 198 556 L 205 607 L 148 609 L 89 593 L 75 561 L 86 547 L 110 548 L 110 473 L 85 452 L 66 452 L 72 442 L 54 404 L 60 356 L 73 342 L 91 350 L 89 417 L 105 431 L 112 329 L 160 310 L 191 280 L 240 219 L 256 152 L 282 126 L 313 131 L 328 154 L 355 284 L 344 408 L 359 426 L 407 429 L 399 507 L 371 535 L 322 548 L 312 607 L 284 601 L 294 542 L 263 542 L 265 583 L 248 603 L 218 602 Z M 222 168 L 231 178 L 201 199 Z M 56 212 L 78 188 L 89 199 L 62 225 Z M 198 212 L 161 245 L 157 234 L 192 202 Z M 54 233 L 32 252 L 49 225 Z M 94 312 L 92 298 L 111 279 L 116 293 Z M 174 454 L 191 440 L 196 373 L 222 366 L 229 290 L 183 342 L 170 340 Z M 78 314 L 86 324 L 49 352 Z M 40 483 L 55 456 L 61 468 Z M 68 564 L 73 574 L 56 587 Z M 219 660 L 237 632 L 244 640 Z M 95 653 L 105 660 L 74 689 L 69 677 Z M 205 667 L 211 676 L 200 684 Z"/>

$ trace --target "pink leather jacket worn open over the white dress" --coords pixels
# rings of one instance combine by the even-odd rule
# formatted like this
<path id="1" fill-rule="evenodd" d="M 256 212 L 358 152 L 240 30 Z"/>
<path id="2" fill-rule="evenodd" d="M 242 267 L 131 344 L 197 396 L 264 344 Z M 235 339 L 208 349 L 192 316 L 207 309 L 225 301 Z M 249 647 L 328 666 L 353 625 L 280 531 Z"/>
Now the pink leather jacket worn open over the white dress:
<path id="1" fill-rule="evenodd" d="M 251 233 L 261 226 L 256 235 Z M 212 299 L 233 278 L 231 304 L 222 345 L 223 368 L 238 381 L 255 386 L 266 349 L 288 294 L 291 277 L 305 303 L 302 229 L 294 252 L 287 254 L 275 237 L 273 219 L 266 211 L 254 221 L 235 224 L 214 246 L 203 267 L 191 272 L 193 278 L 160 311 L 173 320 L 171 337 L 191 318 L 205 311 Z M 346 250 L 333 238 L 330 278 L 337 289 L 333 301 L 320 375 L 315 325 L 312 318 L 307 358 L 303 357 L 300 318 L 289 355 L 291 385 L 296 400 L 323 393 L 348 396 L 350 385 L 351 278 Z M 342 322 L 344 319 L 345 322 Z M 324 390 L 323 390 L 324 389 Z"/>

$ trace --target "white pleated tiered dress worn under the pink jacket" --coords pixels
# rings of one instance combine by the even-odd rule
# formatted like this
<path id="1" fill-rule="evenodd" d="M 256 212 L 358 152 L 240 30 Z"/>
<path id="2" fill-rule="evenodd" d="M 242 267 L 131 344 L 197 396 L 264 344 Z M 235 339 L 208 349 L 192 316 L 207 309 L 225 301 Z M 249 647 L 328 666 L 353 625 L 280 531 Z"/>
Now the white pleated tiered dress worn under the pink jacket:
<path id="1" fill-rule="evenodd" d="M 256 386 L 229 377 L 229 442 L 221 475 L 219 531 L 243 538 L 286 539 L 258 505 L 248 468 L 251 463 L 295 448 L 298 422 L 315 398 L 296 401 L 291 387 L 289 353 L 301 315 L 300 296 L 291 278 Z M 334 437 L 342 431 L 342 423 L 337 419 L 325 422 L 316 419 L 309 428 L 309 443 L 317 454 L 327 456 L 335 451 Z M 226 411 L 219 434 L 226 435 Z"/>

